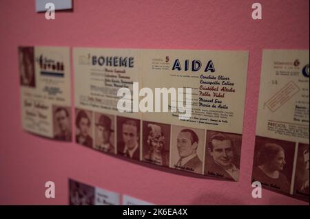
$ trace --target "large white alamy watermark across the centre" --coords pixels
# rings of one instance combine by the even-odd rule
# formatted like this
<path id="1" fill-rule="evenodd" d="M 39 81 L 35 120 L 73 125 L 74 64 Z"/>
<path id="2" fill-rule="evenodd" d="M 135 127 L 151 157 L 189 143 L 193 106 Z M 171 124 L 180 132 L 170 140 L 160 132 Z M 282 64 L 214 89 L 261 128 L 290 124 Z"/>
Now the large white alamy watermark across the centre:
<path id="1" fill-rule="evenodd" d="M 155 95 L 152 89 L 144 87 L 139 91 L 138 82 L 133 83 L 132 92 L 130 89 L 122 87 L 118 89 L 117 96 L 121 97 L 117 103 L 119 112 L 170 112 L 179 113 L 178 119 L 188 120 L 192 116 L 192 89 L 191 88 L 155 88 Z M 185 93 L 185 96 L 184 96 Z M 143 97 L 142 99 L 140 97 Z M 163 106 L 161 100 L 163 97 Z M 170 97 L 170 104 L 169 102 Z M 141 101 L 139 102 L 139 99 Z M 185 106 L 184 106 L 185 100 Z M 155 104 L 155 107 L 153 106 Z"/>

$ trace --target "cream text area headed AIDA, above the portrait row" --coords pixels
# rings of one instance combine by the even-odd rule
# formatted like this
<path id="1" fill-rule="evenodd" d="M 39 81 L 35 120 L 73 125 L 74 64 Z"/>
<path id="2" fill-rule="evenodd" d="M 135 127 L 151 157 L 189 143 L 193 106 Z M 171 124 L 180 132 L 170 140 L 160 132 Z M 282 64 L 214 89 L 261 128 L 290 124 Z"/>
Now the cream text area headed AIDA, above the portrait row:
<path id="1" fill-rule="evenodd" d="M 180 70 L 172 70 L 176 60 L 180 62 Z M 185 60 L 188 60 L 187 71 L 185 70 Z M 192 71 L 193 60 L 201 62 L 198 71 Z M 215 71 L 205 72 L 210 60 Z M 190 121 L 180 121 L 178 116 L 174 116 L 178 113 L 144 113 L 143 119 L 241 134 L 245 107 L 247 60 L 247 51 L 144 50 L 143 86 L 151 89 L 156 87 L 192 88 L 193 105 Z M 227 85 L 223 85 L 223 83 Z M 227 89 L 227 91 L 221 91 L 221 89 Z M 234 92 L 228 92 L 230 89 Z M 222 97 L 223 95 L 224 97 Z M 199 98 L 203 100 L 199 100 Z M 204 106 L 200 104 L 204 104 Z"/>

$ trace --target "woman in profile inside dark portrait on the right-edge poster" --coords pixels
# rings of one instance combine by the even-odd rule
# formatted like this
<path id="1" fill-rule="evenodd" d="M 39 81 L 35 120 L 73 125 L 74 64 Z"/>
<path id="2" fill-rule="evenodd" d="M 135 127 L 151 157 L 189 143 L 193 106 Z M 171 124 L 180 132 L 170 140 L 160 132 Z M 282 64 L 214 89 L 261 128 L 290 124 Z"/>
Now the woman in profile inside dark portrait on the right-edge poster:
<path id="1" fill-rule="evenodd" d="M 278 143 L 265 143 L 257 156 L 258 165 L 253 169 L 253 181 L 289 193 L 290 183 L 282 173 L 286 165 L 285 150 L 282 146 Z"/>

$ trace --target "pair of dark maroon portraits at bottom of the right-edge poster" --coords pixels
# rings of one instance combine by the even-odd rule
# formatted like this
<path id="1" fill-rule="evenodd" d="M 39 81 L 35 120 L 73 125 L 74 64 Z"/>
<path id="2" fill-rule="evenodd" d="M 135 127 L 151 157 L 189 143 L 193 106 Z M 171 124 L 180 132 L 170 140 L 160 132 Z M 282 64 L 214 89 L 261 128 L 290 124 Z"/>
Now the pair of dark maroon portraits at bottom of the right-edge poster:
<path id="1" fill-rule="evenodd" d="M 257 136 L 254 153 L 252 182 L 309 199 L 309 144 Z"/>

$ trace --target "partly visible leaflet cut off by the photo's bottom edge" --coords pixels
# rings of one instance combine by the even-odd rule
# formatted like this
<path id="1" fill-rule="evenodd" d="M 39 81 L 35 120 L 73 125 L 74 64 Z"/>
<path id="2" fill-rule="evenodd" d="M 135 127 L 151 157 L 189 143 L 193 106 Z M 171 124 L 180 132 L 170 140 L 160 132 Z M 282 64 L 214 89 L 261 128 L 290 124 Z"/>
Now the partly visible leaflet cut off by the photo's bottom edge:
<path id="1" fill-rule="evenodd" d="M 69 205 L 154 205 L 145 200 L 121 195 L 69 179 Z"/>

